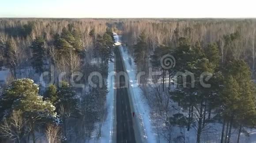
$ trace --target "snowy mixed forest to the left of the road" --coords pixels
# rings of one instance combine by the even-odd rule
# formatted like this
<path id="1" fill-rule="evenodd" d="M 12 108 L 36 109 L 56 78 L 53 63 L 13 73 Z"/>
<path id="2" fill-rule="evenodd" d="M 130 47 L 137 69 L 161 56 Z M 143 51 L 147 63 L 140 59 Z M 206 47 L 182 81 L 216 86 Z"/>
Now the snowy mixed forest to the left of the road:
<path id="1" fill-rule="evenodd" d="M 11 73 L 1 85 L 2 141 L 84 143 L 94 128 L 101 136 L 106 69 L 114 43 L 106 22 L 2 19 L 0 23 L 0 64 Z M 90 72 L 101 73 L 102 87 L 90 87 Z M 97 77 L 91 80 L 99 84 Z"/>

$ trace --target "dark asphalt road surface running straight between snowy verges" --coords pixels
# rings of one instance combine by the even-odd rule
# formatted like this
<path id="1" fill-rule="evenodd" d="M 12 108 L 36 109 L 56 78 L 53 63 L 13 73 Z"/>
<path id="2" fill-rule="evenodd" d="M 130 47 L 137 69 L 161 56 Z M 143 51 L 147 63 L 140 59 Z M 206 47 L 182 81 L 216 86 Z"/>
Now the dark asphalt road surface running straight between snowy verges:
<path id="1" fill-rule="evenodd" d="M 115 67 L 116 72 L 126 72 L 124 71 L 123 62 L 120 56 L 119 48 L 115 48 Z M 117 79 L 117 78 L 116 78 Z M 134 136 L 134 129 L 132 123 L 132 111 L 128 98 L 128 89 L 125 87 L 125 82 L 129 81 L 125 79 L 124 76 L 120 76 L 120 81 L 115 81 L 117 87 L 117 99 L 116 99 L 116 110 L 117 110 L 117 143 L 136 143 Z"/>

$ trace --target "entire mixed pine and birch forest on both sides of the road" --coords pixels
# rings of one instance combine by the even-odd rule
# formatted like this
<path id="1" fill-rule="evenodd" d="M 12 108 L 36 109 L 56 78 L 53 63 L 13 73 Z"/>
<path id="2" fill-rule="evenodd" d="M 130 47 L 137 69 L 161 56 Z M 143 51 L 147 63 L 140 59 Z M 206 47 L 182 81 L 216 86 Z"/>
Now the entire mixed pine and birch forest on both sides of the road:
<path id="1" fill-rule="evenodd" d="M 10 74 L 0 82 L 0 142 L 85 143 L 95 128 L 100 137 L 113 32 L 146 73 L 139 86 L 159 138 L 187 143 L 193 130 L 196 143 L 212 132 L 239 143 L 256 128 L 255 19 L 3 18 L 0 67 Z M 165 55 L 175 66 L 162 67 Z M 101 88 L 88 83 L 95 71 Z"/>

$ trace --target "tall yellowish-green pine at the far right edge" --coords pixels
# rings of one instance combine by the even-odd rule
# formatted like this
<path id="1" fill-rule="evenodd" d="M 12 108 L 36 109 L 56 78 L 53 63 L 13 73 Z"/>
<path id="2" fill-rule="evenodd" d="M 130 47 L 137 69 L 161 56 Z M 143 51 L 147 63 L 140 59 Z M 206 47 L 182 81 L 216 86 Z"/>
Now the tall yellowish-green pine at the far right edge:
<path id="1" fill-rule="evenodd" d="M 228 62 L 224 72 L 228 78 L 225 79 L 222 90 L 222 114 L 227 122 L 228 136 L 225 136 L 225 140 L 229 143 L 234 123 L 239 124 L 240 132 L 243 125 L 254 125 L 255 87 L 251 80 L 250 68 L 243 60 Z"/>

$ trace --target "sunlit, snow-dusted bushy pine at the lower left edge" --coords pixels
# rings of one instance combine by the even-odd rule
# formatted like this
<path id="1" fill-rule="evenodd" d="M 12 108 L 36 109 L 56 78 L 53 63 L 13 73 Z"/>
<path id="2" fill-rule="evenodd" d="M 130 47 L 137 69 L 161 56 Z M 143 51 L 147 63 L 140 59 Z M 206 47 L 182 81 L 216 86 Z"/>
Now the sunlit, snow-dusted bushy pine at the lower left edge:
<path id="1" fill-rule="evenodd" d="M 31 126 L 33 142 L 36 142 L 36 124 L 48 122 L 56 117 L 55 107 L 38 94 L 39 87 L 31 79 L 18 79 L 4 91 L 0 100 L 1 114 L 10 114 L 13 110 L 21 110 Z"/>

